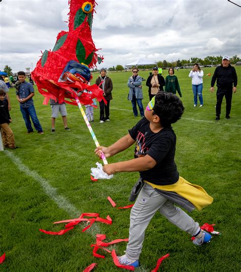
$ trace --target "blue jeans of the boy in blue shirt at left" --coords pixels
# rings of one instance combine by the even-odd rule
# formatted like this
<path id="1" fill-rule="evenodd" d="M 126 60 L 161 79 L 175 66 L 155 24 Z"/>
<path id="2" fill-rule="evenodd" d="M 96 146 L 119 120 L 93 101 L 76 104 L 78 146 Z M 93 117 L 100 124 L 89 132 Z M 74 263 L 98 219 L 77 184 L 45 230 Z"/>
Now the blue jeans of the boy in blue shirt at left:
<path id="1" fill-rule="evenodd" d="M 37 117 L 34 105 L 32 105 L 32 106 L 30 106 L 28 108 L 20 107 L 20 110 L 21 110 L 22 117 L 24 119 L 24 122 L 25 122 L 25 125 L 26 125 L 26 128 L 27 128 L 28 132 L 33 132 L 34 131 L 33 128 L 32 128 L 29 116 L 31 116 L 31 119 L 32 119 L 32 122 L 34 124 L 35 129 L 38 132 L 43 131 L 42 127 L 41 127 L 41 125 L 39 123 L 39 119 Z"/>

